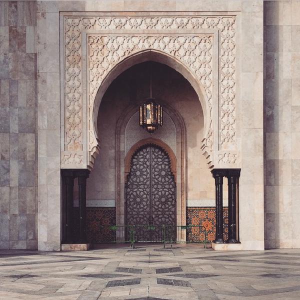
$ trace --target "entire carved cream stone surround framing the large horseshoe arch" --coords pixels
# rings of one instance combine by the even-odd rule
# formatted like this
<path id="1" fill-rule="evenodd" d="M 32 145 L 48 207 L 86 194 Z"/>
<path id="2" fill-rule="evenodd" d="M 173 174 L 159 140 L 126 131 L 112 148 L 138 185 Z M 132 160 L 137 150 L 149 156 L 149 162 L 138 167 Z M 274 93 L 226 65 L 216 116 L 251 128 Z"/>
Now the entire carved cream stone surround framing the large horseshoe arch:
<path id="1" fill-rule="evenodd" d="M 199 82 L 204 90 L 202 101 L 206 102 L 202 152 L 210 167 L 235 166 L 234 15 L 62 17 L 64 138 L 61 168 L 92 168 L 98 152 L 94 127 L 96 94 L 119 62 L 143 50 L 156 50 L 174 57 Z M 214 80 L 218 83 L 214 84 Z"/>

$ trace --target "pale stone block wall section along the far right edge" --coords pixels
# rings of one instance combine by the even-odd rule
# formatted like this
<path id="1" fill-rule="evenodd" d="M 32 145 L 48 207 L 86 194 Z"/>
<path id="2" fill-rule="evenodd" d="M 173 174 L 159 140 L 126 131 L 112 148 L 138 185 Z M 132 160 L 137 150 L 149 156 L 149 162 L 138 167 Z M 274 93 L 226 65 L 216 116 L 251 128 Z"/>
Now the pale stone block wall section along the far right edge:
<path id="1" fill-rule="evenodd" d="M 264 1 L 266 248 L 300 247 L 300 1 Z"/>

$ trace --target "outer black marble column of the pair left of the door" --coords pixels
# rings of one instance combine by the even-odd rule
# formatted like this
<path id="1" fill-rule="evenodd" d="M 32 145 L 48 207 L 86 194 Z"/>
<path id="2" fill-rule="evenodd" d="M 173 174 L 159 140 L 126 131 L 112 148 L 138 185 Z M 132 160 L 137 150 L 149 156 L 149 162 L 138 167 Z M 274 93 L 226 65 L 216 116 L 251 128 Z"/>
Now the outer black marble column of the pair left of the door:
<path id="1" fill-rule="evenodd" d="M 73 242 L 73 190 L 74 176 L 71 169 L 62 169 L 62 242 Z"/>

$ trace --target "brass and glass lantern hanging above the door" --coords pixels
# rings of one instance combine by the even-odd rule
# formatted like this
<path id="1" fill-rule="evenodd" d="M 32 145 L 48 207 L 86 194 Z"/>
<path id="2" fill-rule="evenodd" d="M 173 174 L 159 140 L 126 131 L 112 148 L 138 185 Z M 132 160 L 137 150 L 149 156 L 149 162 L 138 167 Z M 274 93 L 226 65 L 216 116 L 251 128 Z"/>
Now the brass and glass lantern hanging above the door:
<path id="1" fill-rule="evenodd" d="M 139 125 L 149 133 L 162 125 L 162 107 L 155 103 L 154 98 L 147 98 L 146 103 L 139 106 Z"/>

